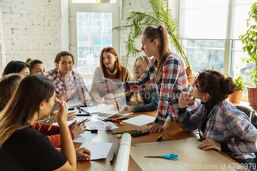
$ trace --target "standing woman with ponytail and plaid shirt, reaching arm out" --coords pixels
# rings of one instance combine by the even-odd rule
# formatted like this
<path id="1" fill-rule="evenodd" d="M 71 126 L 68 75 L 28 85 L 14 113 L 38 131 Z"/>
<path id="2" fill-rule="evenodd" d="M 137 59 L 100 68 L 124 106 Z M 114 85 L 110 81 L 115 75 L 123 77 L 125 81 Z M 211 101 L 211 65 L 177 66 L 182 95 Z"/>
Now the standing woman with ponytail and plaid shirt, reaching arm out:
<path id="1" fill-rule="evenodd" d="M 152 85 L 159 100 L 158 115 L 150 128 L 151 132 L 160 131 L 167 119 L 175 116 L 178 110 L 178 98 L 181 92 L 191 93 L 191 86 L 187 80 L 185 66 L 181 59 L 169 50 L 167 29 L 149 26 L 143 31 L 142 48 L 148 57 L 154 56 L 143 75 L 134 82 L 114 83 L 107 80 L 108 88 L 124 89 L 125 91 L 140 91 Z M 106 89 L 106 84 L 97 84 L 99 89 Z M 120 90 L 121 91 L 121 90 Z M 187 105 L 187 108 L 195 110 L 199 106 L 198 101 Z"/>

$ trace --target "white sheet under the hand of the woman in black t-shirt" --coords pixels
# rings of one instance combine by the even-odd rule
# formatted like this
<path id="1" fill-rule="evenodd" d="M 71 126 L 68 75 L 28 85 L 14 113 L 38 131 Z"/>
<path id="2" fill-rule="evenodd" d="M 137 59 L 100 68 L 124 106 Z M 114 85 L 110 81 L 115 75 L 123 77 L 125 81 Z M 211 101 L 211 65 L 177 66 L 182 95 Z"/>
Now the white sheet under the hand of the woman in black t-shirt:
<path id="1" fill-rule="evenodd" d="M 112 145 L 113 143 L 85 142 L 81 144 L 80 148 L 86 147 L 87 149 L 89 149 L 91 151 L 90 160 L 97 160 L 105 159 L 108 156 Z"/>

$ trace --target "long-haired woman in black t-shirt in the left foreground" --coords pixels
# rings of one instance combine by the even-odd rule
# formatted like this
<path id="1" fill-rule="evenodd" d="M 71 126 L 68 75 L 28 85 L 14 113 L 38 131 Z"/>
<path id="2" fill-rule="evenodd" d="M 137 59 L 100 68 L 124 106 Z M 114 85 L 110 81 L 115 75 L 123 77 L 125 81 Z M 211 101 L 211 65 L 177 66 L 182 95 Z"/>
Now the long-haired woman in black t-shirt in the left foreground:
<path id="1" fill-rule="evenodd" d="M 0 160 L 5 163 L 1 170 L 76 170 L 65 102 L 61 102 L 58 116 L 61 152 L 45 135 L 32 128 L 36 120 L 51 112 L 54 90 L 55 85 L 49 79 L 36 74 L 25 77 L 17 87 L 0 113 Z M 90 154 L 89 150 L 85 153 Z"/>

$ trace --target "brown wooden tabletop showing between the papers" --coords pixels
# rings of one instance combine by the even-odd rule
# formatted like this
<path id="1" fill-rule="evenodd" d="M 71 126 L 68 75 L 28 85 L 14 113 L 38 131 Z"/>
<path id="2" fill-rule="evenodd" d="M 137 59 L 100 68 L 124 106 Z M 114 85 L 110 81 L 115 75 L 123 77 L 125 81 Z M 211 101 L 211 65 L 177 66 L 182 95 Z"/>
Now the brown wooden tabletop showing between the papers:
<path id="1" fill-rule="evenodd" d="M 110 102 L 110 101 L 109 101 Z M 110 104 L 110 103 L 109 103 Z M 156 111 L 148 111 L 148 112 L 135 112 L 133 117 L 139 115 L 148 115 L 152 117 L 157 116 Z M 119 128 L 113 129 L 111 131 L 98 131 L 98 135 L 96 135 L 90 142 L 106 142 L 106 143 L 113 143 L 111 150 L 106 159 L 100 160 L 92 160 L 92 161 L 85 161 L 85 160 L 77 160 L 77 170 L 114 170 L 115 163 L 117 160 L 117 154 L 120 145 L 120 139 L 117 138 L 117 135 L 112 135 L 113 132 L 122 131 L 122 130 L 130 130 L 130 129 L 138 129 L 144 131 L 149 131 L 151 126 L 136 126 L 131 125 L 128 123 L 124 123 L 123 126 L 119 125 L 119 123 L 114 122 Z M 192 132 L 186 132 L 181 129 L 179 124 L 173 121 L 171 118 L 167 118 L 166 123 L 163 126 L 163 129 L 160 132 L 150 133 L 148 135 L 132 137 L 131 145 L 137 143 L 148 143 L 148 142 L 157 142 L 156 139 L 161 135 L 164 140 L 171 141 L 171 140 L 180 140 L 180 139 L 187 139 L 190 137 L 196 137 Z M 75 148 L 79 148 L 81 143 L 74 143 Z M 223 156 L 227 157 L 231 161 L 235 162 L 228 156 L 224 155 L 221 151 L 217 151 L 218 153 L 222 154 Z M 116 153 L 116 157 L 114 162 L 111 164 L 109 161 L 112 157 L 112 154 Z M 128 163 L 128 170 L 141 170 L 140 167 L 136 164 L 136 162 L 130 157 L 130 161 Z"/>

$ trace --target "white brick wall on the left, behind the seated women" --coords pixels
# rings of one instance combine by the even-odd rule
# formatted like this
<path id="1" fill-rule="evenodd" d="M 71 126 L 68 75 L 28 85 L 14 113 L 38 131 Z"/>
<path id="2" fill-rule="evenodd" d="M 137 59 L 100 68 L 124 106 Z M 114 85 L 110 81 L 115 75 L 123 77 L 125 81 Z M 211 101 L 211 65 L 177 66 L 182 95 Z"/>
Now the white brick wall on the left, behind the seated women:
<path id="1" fill-rule="evenodd" d="M 5 44 L 3 66 L 11 60 L 24 61 L 30 56 L 40 59 L 46 70 L 52 69 L 54 56 L 63 49 L 61 0 L 21 0 L 16 1 L 17 4 L 8 0 L 1 2 L 0 18 L 3 22 L 0 22 L 0 34 L 3 32 L 1 44 Z M 62 2 L 68 4 L 68 0 Z M 68 37 L 65 39 L 69 44 Z"/>

